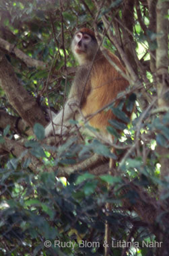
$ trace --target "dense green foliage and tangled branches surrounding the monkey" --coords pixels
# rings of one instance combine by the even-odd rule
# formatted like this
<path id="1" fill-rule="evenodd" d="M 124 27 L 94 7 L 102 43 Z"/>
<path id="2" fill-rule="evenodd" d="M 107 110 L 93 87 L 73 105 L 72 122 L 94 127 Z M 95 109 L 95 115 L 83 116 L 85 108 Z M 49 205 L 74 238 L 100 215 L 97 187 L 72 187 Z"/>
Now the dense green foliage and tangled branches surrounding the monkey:
<path id="1" fill-rule="evenodd" d="M 104 255 L 105 223 L 110 255 L 168 255 L 168 1 L 100 3 L 0 0 L 2 256 Z M 83 26 L 103 35 L 130 79 L 131 98 L 109 106 L 119 117 L 107 127 L 114 154 L 78 132 L 54 146 L 44 139 L 46 109 L 59 111 L 69 92 L 71 38 Z M 131 109 L 135 96 L 126 127 L 123 104 Z M 106 162 L 69 174 L 92 154 L 115 160 L 113 175 Z"/>

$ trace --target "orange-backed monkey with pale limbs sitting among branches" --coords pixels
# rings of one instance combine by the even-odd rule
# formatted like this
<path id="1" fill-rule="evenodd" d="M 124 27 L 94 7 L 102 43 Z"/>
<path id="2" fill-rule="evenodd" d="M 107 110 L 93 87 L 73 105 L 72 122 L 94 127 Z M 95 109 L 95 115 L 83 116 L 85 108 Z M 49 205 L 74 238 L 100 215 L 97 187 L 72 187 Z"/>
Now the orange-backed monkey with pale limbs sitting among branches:
<path id="1" fill-rule="evenodd" d="M 81 114 L 84 119 L 90 117 L 97 110 L 100 110 L 106 104 L 116 99 L 116 96 L 129 86 L 125 79 L 108 62 L 102 51 L 98 49 L 96 36 L 89 28 L 81 28 L 73 37 L 71 42 L 71 51 L 77 59 L 79 66 L 69 92 L 65 106 L 53 118 L 45 128 L 45 136 L 53 134 L 62 135 L 68 131 L 69 119 L 75 118 L 79 121 Z M 106 53 L 112 61 L 125 73 L 125 67 L 116 55 L 106 49 Z M 119 100 L 116 100 L 116 106 Z M 131 113 L 125 110 L 125 113 L 131 117 Z M 88 123 L 99 130 L 102 137 L 112 141 L 112 135 L 108 133 L 106 127 L 110 119 L 117 119 L 112 110 L 102 110 L 97 115 L 92 116 Z M 63 127 L 61 127 L 63 124 Z"/>

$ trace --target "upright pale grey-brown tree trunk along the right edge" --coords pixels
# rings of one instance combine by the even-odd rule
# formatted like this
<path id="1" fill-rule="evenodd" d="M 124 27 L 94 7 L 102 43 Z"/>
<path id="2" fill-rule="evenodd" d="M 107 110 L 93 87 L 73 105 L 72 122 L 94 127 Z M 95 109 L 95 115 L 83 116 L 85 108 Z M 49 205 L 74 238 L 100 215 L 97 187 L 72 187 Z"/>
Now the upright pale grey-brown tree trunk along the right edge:
<path id="1" fill-rule="evenodd" d="M 157 71 L 157 92 L 158 92 L 158 107 L 166 108 L 169 106 L 169 84 L 168 84 L 168 1 L 158 0 L 157 7 L 157 43 L 158 48 L 156 50 L 156 71 Z M 166 114 L 164 112 L 164 114 Z M 161 120 L 163 115 L 160 116 Z M 163 146 L 158 146 L 157 152 L 160 156 L 161 164 L 161 179 L 162 181 L 168 181 L 169 177 L 169 150 Z M 160 187 L 160 199 L 164 209 L 168 209 L 168 199 L 164 201 L 163 195 L 166 195 L 168 191 L 166 188 Z M 162 216 L 159 211 L 158 216 Z M 157 255 L 168 256 L 169 248 L 169 236 L 168 230 L 164 230 L 167 227 L 168 214 L 165 214 L 165 218 L 160 218 L 159 225 L 159 240 L 162 241 L 162 247 L 158 249 Z"/>

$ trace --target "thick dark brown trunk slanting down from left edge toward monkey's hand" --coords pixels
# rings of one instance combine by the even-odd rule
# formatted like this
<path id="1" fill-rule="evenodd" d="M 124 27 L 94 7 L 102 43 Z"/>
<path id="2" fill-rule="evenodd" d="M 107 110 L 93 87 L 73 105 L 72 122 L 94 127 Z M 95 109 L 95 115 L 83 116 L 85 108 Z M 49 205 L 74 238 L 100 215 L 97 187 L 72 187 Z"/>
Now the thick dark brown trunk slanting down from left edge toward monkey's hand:
<path id="1" fill-rule="evenodd" d="M 0 57 L 0 86 L 5 91 L 10 104 L 30 127 L 33 127 L 35 123 L 46 125 L 44 113 L 34 98 L 20 84 L 13 67 L 4 55 Z"/>

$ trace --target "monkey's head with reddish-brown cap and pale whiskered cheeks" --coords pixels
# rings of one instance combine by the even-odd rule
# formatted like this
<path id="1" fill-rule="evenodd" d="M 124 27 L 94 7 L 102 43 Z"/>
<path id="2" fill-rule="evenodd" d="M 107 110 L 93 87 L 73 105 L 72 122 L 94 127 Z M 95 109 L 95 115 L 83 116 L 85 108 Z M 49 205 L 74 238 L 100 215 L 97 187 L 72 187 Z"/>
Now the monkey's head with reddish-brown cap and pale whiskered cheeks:
<path id="1" fill-rule="evenodd" d="M 98 42 L 96 36 L 89 28 L 81 28 L 75 32 L 73 41 L 71 43 L 71 51 L 79 64 L 85 64 L 92 61 L 98 49 Z"/>

